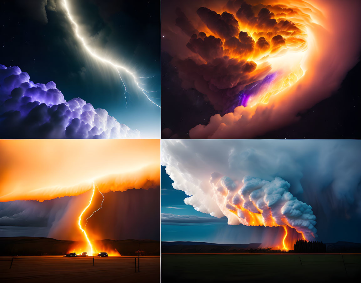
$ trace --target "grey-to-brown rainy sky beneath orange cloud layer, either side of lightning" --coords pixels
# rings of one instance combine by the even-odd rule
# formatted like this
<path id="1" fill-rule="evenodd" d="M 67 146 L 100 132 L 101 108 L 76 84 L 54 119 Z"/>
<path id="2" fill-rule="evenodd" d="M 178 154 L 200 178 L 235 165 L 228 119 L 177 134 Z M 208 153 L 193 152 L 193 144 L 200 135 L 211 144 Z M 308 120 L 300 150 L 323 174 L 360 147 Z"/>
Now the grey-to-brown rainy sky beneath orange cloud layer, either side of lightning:
<path id="1" fill-rule="evenodd" d="M 44 202 L 0 202 L 0 236 L 79 240 L 79 204 L 86 206 L 89 196 L 85 193 Z M 101 197 L 93 199 L 92 204 L 99 208 Z M 108 192 L 104 193 L 103 207 L 88 219 L 87 229 L 101 239 L 159 240 L 159 214 L 159 189 Z M 90 216 L 91 210 L 86 215 Z"/>

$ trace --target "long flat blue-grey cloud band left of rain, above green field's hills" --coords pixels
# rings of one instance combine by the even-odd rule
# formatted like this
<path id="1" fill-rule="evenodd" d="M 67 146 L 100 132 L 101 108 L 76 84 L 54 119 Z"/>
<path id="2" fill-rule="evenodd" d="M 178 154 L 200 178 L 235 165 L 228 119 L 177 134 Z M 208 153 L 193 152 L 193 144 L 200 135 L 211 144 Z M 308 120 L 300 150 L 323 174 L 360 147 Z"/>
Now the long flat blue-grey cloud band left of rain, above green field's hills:
<path id="1" fill-rule="evenodd" d="M 226 223 L 225 219 L 217 217 L 200 217 L 195 215 L 176 215 L 162 213 L 162 224 L 165 225 L 192 225 L 203 223 Z"/>

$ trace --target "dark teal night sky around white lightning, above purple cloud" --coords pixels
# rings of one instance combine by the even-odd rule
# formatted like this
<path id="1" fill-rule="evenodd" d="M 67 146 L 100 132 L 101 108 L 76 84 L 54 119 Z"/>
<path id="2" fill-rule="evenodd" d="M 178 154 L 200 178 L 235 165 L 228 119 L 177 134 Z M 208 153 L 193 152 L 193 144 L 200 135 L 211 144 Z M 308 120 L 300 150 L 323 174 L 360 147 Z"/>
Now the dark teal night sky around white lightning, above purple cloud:
<path id="1" fill-rule="evenodd" d="M 34 83 L 54 81 L 68 101 L 80 97 L 103 108 L 141 137 L 159 136 L 160 108 L 129 82 L 126 107 L 118 73 L 90 57 L 69 23 L 62 1 L 1 1 L 0 64 L 18 66 Z M 160 1 L 68 1 L 89 45 L 147 79 L 160 103 Z M 125 83 L 127 77 L 122 74 Z"/>

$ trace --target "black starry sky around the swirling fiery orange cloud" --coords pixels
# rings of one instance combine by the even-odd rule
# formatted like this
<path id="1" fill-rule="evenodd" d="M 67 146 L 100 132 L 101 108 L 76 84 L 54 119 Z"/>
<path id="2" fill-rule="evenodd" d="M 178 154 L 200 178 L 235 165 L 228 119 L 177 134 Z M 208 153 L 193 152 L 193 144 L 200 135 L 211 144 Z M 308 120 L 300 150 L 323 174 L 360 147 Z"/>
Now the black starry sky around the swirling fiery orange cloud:
<path id="1" fill-rule="evenodd" d="M 212 1 L 209 1 L 212 3 Z M 206 1 L 201 2 L 203 5 Z M 208 2 L 207 2 L 208 3 Z M 181 5 L 190 17 L 189 6 Z M 162 8 L 166 13 L 162 14 L 163 23 L 174 26 L 177 15 L 175 14 L 176 3 L 166 2 Z M 199 7 L 201 5 L 198 5 Z M 197 9 L 195 7 L 194 9 Z M 187 14 L 188 12 L 188 14 Z M 172 16 L 173 15 L 173 16 Z M 193 21 L 194 23 L 194 21 Z M 168 26 L 162 27 L 162 36 L 169 34 Z M 180 29 L 179 29 L 180 30 Z M 174 29 L 172 30 L 172 32 Z M 171 33 L 171 32 L 170 32 Z M 186 37 L 179 34 L 179 37 Z M 183 38 L 184 37 L 184 38 Z M 163 37 L 162 37 L 163 39 Z M 180 40 L 180 42 L 183 42 Z M 189 130 L 196 125 L 206 125 L 209 118 L 214 114 L 224 115 L 221 111 L 214 110 L 212 104 L 204 99 L 204 94 L 196 89 L 183 89 L 179 79 L 175 63 L 171 63 L 173 57 L 167 52 L 169 49 L 177 54 L 180 46 L 172 44 L 166 37 L 162 41 L 162 138 L 189 138 Z M 179 42 L 179 44 L 180 44 Z M 186 41 L 185 41 L 186 42 Z M 184 43 L 184 42 L 183 42 Z M 184 49 L 185 43 L 183 46 Z M 361 51 L 360 51 L 361 52 Z M 361 55 L 361 53 L 360 53 Z M 360 58 L 360 57 L 359 57 Z M 358 108 L 361 105 L 360 91 L 358 86 L 360 59 L 355 61 L 354 67 L 345 74 L 342 85 L 332 92 L 329 98 L 322 100 L 308 110 L 299 112 L 298 122 L 281 127 L 277 130 L 266 132 L 256 139 L 359 139 L 361 138 L 358 125 L 360 115 Z M 337 114 L 335 114 L 337 112 Z M 166 130 L 164 130 L 166 129 Z M 169 130 L 170 129 L 170 130 Z"/>

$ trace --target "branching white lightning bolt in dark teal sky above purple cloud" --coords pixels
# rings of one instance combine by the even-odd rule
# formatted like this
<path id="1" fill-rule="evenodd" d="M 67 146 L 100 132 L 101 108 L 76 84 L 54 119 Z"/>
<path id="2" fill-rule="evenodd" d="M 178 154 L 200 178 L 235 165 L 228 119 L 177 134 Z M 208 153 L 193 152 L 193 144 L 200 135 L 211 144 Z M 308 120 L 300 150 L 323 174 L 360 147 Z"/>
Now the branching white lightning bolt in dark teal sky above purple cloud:
<path id="1" fill-rule="evenodd" d="M 124 84 L 124 81 L 122 80 L 122 77 L 120 76 L 119 69 L 123 69 L 124 71 L 126 71 L 127 73 L 129 73 L 129 74 L 131 75 L 131 77 L 134 79 L 135 84 L 138 86 L 138 88 L 139 88 L 140 90 L 142 90 L 143 94 L 148 98 L 148 100 L 149 100 L 152 104 L 155 104 L 156 106 L 160 107 L 160 105 L 158 105 L 157 103 L 155 103 L 155 102 L 151 99 L 151 98 L 153 98 L 153 97 L 152 97 L 152 96 L 149 96 L 149 93 L 151 93 L 151 92 L 156 92 L 156 91 L 147 91 L 147 90 L 143 89 L 143 87 L 141 87 L 141 85 L 144 85 L 144 84 L 136 81 L 138 78 L 145 78 L 145 77 L 135 77 L 134 73 L 128 71 L 128 69 L 125 68 L 124 66 L 120 66 L 120 65 L 118 65 L 118 64 L 114 64 L 113 62 L 110 62 L 109 60 L 100 57 L 100 56 L 97 55 L 95 52 L 93 52 L 93 51 L 90 50 L 90 48 L 89 48 L 89 46 L 86 44 L 84 38 L 83 38 L 82 36 L 80 36 L 79 33 L 78 33 L 78 24 L 77 24 L 77 23 L 73 20 L 73 18 L 71 17 L 71 14 L 70 14 L 70 11 L 69 11 L 69 7 L 68 7 L 68 3 L 66 2 L 66 0 L 63 0 L 63 3 L 64 3 L 64 7 L 65 7 L 65 10 L 66 10 L 66 14 L 68 15 L 68 18 L 69 18 L 70 22 L 71 22 L 71 23 L 73 24 L 73 26 L 75 27 L 75 28 L 74 28 L 75 35 L 78 37 L 78 39 L 79 39 L 80 42 L 82 43 L 84 49 L 87 50 L 87 52 L 88 52 L 90 55 L 92 55 L 94 58 L 96 58 L 96 59 L 98 59 L 98 60 L 100 60 L 100 61 L 102 61 L 102 62 L 104 62 L 104 63 L 108 63 L 108 64 L 110 64 L 111 66 L 113 66 L 113 67 L 117 70 L 117 72 L 118 72 L 118 74 L 119 74 L 119 77 L 120 77 L 120 79 L 121 79 L 124 87 L 125 87 L 125 84 Z M 151 78 L 151 77 L 148 77 L 148 78 Z M 126 92 L 127 92 L 127 90 L 126 90 L 126 88 L 125 88 L 125 92 L 124 92 L 125 103 L 126 103 L 126 105 L 128 105 L 128 104 L 127 104 L 127 97 L 126 97 L 126 95 L 125 95 Z"/>

